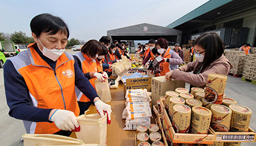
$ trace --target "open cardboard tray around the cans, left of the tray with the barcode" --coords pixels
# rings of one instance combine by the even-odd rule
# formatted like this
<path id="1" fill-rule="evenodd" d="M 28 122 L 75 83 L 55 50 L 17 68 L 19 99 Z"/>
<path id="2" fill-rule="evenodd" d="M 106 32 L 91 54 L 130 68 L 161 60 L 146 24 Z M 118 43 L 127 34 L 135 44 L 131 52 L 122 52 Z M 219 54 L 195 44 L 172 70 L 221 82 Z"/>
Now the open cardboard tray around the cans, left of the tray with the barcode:
<path id="1" fill-rule="evenodd" d="M 162 110 L 162 125 L 167 125 L 167 134 L 171 136 L 171 140 L 173 141 L 173 143 L 197 143 L 201 139 L 200 144 L 213 144 L 216 136 L 212 134 L 212 131 L 210 130 L 208 134 L 176 133 L 173 129 L 173 126 L 162 103 L 162 100 L 160 101 L 160 106 L 162 107 L 162 109 L 164 109 Z"/>

